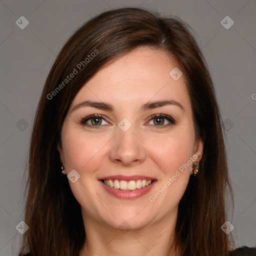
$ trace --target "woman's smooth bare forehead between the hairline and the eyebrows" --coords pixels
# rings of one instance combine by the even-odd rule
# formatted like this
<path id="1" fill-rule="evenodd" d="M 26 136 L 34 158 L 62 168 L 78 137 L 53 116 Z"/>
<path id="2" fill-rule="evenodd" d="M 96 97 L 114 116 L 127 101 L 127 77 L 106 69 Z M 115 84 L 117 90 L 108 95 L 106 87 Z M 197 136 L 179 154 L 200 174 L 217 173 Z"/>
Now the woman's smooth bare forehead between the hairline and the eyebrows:
<path id="1" fill-rule="evenodd" d="M 86 99 L 108 102 L 119 109 L 149 100 L 174 99 L 189 108 L 184 78 L 174 80 L 169 75 L 175 67 L 178 63 L 161 50 L 147 46 L 133 49 L 86 82 L 71 107 Z"/>

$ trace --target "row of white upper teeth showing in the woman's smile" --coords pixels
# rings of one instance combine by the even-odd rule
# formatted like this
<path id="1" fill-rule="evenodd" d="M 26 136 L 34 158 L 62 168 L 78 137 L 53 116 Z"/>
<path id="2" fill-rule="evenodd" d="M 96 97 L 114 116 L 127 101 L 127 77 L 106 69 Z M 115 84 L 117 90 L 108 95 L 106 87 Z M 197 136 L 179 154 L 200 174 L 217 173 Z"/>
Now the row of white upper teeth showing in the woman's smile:
<path id="1" fill-rule="evenodd" d="M 112 180 L 112 179 L 104 179 L 103 180 L 104 184 L 110 187 L 113 187 L 115 189 L 121 189 L 121 190 L 135 190 L 139 189 L 144 186 L 148 186 L 151 184 L 152 180 L 146 180 L 146 179 L 138 179 L 137 181 L 135 180 Z"/>

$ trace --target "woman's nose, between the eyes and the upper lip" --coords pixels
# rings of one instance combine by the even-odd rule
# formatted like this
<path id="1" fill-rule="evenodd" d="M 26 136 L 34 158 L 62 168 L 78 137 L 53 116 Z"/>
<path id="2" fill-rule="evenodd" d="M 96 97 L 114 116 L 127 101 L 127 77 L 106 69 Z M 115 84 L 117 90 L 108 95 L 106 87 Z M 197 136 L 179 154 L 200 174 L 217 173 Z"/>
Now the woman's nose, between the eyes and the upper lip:
<path id="1" fill-rule="evenodd" d="M 126 131 L 117 126 L 111 141 L 110 159 L 112 161 L 125 166 L 133 166 L 145 160 L 146 146 L 134 125 Z"/>

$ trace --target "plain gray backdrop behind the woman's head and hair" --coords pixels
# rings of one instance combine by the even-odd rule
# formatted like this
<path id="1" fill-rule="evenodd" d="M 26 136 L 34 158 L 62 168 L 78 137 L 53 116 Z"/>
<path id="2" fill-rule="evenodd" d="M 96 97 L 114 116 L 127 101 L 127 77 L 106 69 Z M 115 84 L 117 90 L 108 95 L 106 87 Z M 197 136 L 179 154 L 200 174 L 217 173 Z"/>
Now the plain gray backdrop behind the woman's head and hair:
<path id="1" fill-rule="evenodd" d="M 256 245 L 255 0 L 0 0 L 0 255 L 17 255 L 31 124 L 56 54 L 87 19 L 131 5 L 176 15 L 194 29 L 226 127 L 232 234 L 236 246 Z M 22 15 L 24 29 L 15 23 Z M 229 29 L 220 23 L 227 15 Z"/>

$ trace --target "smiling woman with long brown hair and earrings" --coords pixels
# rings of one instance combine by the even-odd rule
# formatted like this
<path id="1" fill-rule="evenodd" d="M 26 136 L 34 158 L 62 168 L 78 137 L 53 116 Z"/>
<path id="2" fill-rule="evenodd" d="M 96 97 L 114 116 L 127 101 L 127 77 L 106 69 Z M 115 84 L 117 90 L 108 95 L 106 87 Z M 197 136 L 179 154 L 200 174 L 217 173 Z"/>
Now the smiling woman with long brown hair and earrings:
<path id="1" fill-rule="evenodd" d="M 223 231 L 232 190 L 214 88 L 178 18 L 119 8 L 69 38 L 37 107 L 28 174 L 20 254 L 238 252 Z"/>

